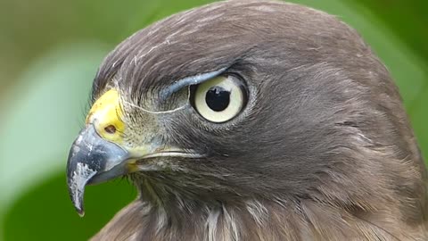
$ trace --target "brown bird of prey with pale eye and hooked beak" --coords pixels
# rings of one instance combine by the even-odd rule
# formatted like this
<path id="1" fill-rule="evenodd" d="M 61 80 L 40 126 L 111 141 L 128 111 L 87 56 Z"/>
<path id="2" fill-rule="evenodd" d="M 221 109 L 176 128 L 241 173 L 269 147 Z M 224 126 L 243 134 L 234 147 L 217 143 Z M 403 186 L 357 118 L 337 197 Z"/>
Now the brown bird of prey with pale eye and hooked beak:
<path id="1" fill-rule="evenodd" d="M 391 76 L 358 33 L 298 4 L 226 1 L 104 59 L 70 196 L 128 177 L 94 240 L 428 240 L 427 174 Z"/>

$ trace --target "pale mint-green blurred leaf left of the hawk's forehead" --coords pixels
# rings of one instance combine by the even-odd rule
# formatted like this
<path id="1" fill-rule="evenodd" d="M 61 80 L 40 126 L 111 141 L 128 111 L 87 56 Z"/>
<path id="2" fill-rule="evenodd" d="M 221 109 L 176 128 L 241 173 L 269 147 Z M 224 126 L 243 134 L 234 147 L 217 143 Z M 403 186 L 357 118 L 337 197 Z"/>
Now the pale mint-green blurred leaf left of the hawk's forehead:
<path id="1" fill-rule="evenodd" d="M 80 129 L 106 52 L 99 44 L 54 49 L 2 96 L 8 105 L 0 128 L 0 213 L 38 181 L 64 171 L 67 149 Z"/>

